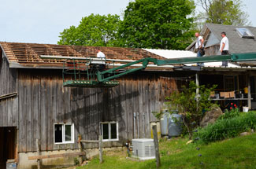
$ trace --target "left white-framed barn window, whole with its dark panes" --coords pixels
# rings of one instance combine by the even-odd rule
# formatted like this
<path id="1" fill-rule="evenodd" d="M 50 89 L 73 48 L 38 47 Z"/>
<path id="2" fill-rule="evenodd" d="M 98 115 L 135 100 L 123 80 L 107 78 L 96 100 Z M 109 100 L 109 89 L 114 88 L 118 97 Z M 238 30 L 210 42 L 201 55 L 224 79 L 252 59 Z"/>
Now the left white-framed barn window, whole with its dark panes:
<path id="1" fill-rule="evenodd" d="M 55 144 L 74 143 L 74 124 L 72 123 L 54 124 L 54 143 Z"/>

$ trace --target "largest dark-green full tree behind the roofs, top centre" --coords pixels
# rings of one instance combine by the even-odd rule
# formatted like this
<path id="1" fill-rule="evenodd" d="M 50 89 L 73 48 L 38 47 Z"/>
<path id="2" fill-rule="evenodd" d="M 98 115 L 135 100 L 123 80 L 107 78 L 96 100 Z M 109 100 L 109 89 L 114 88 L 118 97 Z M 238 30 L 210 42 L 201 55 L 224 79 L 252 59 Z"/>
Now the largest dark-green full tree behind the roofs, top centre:
<path id="1" fill-rule="evenodd" d="M 192 0 L 135 0 L 124 11 L 121 45 L 138 48 L 184 50 L 195 31 Z"/>

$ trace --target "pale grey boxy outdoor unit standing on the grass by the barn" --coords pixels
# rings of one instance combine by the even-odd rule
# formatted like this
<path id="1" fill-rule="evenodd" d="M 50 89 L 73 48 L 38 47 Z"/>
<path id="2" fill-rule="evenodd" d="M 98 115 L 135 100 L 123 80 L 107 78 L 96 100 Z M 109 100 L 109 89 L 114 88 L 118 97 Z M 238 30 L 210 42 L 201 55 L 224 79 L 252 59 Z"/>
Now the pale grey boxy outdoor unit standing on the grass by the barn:
<path id="1" fill-rule="evenodd" d="M 150 138 L 132 139 L 132 157 L 139 158 L 139 160 L 154 159 L 154 140 Z"/>

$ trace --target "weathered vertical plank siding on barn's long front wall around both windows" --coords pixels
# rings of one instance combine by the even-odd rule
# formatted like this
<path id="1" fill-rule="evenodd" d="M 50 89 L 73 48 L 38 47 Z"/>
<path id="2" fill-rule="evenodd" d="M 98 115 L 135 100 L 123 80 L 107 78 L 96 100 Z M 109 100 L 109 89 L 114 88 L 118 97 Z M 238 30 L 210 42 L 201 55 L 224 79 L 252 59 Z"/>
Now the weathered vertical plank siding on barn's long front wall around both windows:
<path id="1" fill-rule="evenodd" d="M 77 149 L 77 136 L 98 139 L 99 123 L 117 121 L 119 140 L 104 142 L 104 146 L 120 146 L 135 138 L 139 112 L 139 138 L 150 137 L 151 112 L 159 111 L 165 96 L 176 82 L 168 74 L 136 73 L 119 79 L 119 86 L 109 89 L 63 87 L 61 71 L 19 70 L 19 151 L 36 150 L 35 139 L 42 150 Z M 75 143 L 54 144 L 54 123 L 71 122 L 75 126 Z M 93 146 L 93 145 L 87 145 Z"/>

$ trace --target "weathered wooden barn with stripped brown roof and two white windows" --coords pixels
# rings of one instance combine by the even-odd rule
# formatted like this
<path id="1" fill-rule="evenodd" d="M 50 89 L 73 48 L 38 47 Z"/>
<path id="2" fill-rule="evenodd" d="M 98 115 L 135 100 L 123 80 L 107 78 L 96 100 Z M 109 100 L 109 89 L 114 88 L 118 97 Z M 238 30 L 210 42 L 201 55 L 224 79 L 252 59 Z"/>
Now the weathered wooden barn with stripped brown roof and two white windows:
<path id="1" fill-rule="evenodd" d="M 150 138 L 151 112 L 159 112 L 176 90 L 172 66 L 147 69 L 118 79 L 108 88 L 64 87 L 62 61 L 41 55 L 95 57 L 95 47 L 1 42 L 0 160 L 15 159 L 19 168 L 32 168 L 36 139 L 42 155 L 76 152 L 77 138 L 95 140 L 104 134 L 104 147 L 121 147 L 132 138 Z M 162 57 L 142 49 L 100 47 L 109 59 Z M 87 149 L 97 148 L 87 144 Z M 88 150 L 89 151 L 89 150 Z M 87 152 L 87 156 L 89 156 Z M 44 166 L 73 163 L 73 158 L 43 160 Z"/>

